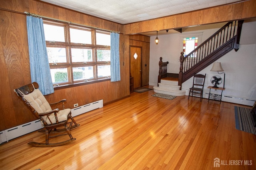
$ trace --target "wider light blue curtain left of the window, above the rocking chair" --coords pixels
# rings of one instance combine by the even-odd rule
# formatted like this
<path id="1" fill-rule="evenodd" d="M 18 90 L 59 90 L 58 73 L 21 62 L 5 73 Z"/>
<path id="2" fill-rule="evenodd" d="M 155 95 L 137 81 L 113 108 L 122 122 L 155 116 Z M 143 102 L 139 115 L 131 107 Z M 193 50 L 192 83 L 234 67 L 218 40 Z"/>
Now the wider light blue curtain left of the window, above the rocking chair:
<path id="1" fill-rule="evenodd" d="M 42 18 L 27 16 L 31 81 L 39 84 L 43 95 L 54 93 Z"/>

